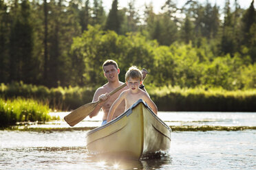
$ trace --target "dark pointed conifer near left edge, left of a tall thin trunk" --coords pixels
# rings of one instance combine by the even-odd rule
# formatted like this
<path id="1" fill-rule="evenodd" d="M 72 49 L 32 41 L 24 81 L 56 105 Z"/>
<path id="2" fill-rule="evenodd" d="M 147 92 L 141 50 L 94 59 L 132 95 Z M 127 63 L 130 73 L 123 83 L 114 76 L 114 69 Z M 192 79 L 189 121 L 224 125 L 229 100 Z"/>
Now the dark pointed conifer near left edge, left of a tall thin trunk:
<path id="1" fill-rule="evenodd" d="M 32 83 L 34 76 L 33 27 L 30 21 L 30 4 L 21 2 L 10 32 L 10 80 Z"/>

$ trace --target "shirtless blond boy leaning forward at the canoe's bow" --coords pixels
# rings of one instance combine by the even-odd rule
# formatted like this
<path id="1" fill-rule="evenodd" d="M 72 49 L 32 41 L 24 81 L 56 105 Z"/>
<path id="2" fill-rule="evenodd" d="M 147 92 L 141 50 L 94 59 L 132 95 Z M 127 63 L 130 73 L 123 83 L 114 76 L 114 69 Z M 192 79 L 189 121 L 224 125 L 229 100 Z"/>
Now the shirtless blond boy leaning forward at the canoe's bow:
<path id="1" fill-rule="evenodd" d="M 122 91 L 118 99 L 114 101 L 114 104 L 109 110 L 107 115 L 107 122 L 111 121 L 114 115 L 116 108 L 125 100 L 125 110 L 131 107 L 138 99 L 145 101 L 149 107 L 153 110 L 155 114 L 158 113 L 158 108 L 156 104 L 150 99 L 147 93 L 144 90 L 139 88 L 142 84 L 142 73 L 136 66 L 131 66 L 127 73 L 125 74 L 125 81 L 128 86 L 128 90 Z"/>

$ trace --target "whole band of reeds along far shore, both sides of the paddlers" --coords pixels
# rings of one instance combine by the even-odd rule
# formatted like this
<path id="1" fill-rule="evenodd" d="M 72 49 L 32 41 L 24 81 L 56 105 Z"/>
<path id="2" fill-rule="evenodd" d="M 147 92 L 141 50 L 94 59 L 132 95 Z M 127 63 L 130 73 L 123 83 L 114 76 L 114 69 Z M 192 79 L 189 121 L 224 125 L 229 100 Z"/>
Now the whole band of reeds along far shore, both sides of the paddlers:
<path id="1" fill-rule="evenodd" d="M 256 112 L 256 89 L 156 87 L 145 84 L 160 111 Z M 0 97 L 25 97 L 49 104 L 52 110 L 74 110 L 92 101 L 97 87 L 47 88 L 31 84 L 1 84 Z"/>

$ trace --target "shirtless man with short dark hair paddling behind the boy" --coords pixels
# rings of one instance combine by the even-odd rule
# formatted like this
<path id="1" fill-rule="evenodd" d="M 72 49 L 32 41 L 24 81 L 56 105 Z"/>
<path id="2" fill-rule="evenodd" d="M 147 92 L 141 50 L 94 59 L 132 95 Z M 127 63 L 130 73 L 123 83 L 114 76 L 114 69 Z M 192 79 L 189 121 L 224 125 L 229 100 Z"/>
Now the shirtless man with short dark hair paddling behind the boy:
<path id="1" fill-rule="evenodd" d="M 101 102 L 100 104 L 98 104 L 98 106 L 96 106 L 94 111 L 91 114 L 89 114 L 90 118 L 95 117 L 100 111 L 100 109 L 102 108 L 103 109 L 102 125 L 107 123 L 107 114 L 109 112 L 110 107 L 114 103 L 114 101 L 116 101 L 116 99 L 118 98 L 120 93 L 122 93 L 123 90 L 128 89 L 127 86 L 125 86 L 124 88 L 116 92 L 114 95 L 109 96 L 108 93 L 118 88 L 119 86 L 122 86 L 122 84 L 124 83 L 119 81 L 118 75 L 120 73 L 120 69 L 118 68 L 118 64 L 114 60 L 106 60 L 103 63 L 103 71 L 104 71 L 105 77 L 107 78 L 107 84 L 104 84 L 103 86 L 98 88 L 94 93 L 94 98 L 92 99 L 92 101 L 94 102 L 94 101 L 100 100 Z M 143 78 L 145 78 L 147 75 L 147 72 L 142 71 L 142 73 L 143 73 Z M 145 90 L 143 84 L 140 86 L 140 88 L 142 90 Z M 122 103 L 118 106 L 118 108 L 116 108 L 116 111 L 113 114 L 113 118 L 118 117 L 124 111 L 125 111 L 125 101 L 122 101 Z"/>

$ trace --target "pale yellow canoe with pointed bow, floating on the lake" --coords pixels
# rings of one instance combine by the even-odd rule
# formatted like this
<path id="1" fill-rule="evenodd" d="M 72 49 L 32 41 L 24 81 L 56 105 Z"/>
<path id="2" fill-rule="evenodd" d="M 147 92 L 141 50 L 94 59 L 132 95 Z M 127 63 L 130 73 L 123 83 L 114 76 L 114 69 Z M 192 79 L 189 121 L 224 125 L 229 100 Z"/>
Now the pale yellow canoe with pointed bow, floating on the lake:
<path id="1" fill-rule="evenodd" d="M 171 147 L 171 128 L 139 99 L 126 112 L 109 123 L 87 132 L 87 149 L 139 159 Z"/>

